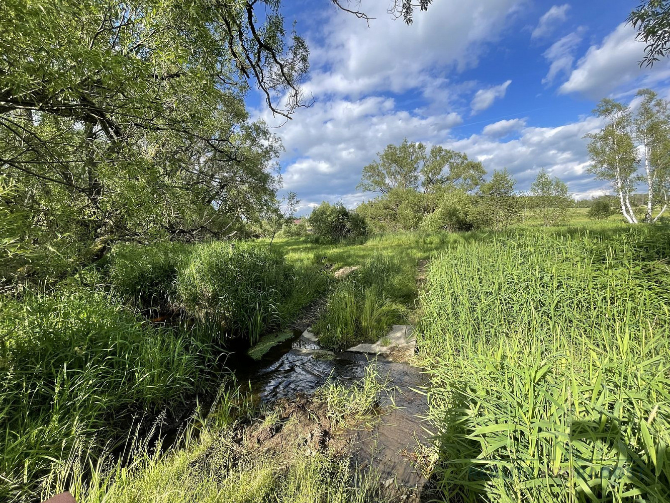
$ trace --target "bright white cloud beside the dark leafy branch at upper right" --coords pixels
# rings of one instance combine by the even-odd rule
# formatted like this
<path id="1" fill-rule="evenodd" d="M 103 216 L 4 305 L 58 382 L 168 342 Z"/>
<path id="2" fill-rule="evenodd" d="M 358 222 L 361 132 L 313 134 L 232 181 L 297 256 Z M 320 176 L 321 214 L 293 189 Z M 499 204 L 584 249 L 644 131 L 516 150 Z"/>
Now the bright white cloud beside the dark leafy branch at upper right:
<path id="1" fill-rule="evenodd" d="M 670 77 L 667 61 L 655 64 L 653 68 L 640 68 L 645 43 L 635 40 L 635 36 L 632 26 L 626 23 L 618 25 L 600 46 L 589 48 L 559 92 L 581 93 L 600 99 L 622 87 L 630 91 Z"/>

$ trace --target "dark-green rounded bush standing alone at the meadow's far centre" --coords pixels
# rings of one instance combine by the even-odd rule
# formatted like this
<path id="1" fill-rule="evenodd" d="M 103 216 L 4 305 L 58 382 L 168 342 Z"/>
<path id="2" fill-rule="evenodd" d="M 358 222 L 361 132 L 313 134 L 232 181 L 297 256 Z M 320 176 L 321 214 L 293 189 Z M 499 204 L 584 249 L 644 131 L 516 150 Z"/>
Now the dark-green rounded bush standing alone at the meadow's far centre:
<path id="1" fill-rule="evenodd" d="M 338 203 L 321 203 L 310 215 L 310 225 L 317 239 L 328 242 L 366 235 L 364 219 Z"/>

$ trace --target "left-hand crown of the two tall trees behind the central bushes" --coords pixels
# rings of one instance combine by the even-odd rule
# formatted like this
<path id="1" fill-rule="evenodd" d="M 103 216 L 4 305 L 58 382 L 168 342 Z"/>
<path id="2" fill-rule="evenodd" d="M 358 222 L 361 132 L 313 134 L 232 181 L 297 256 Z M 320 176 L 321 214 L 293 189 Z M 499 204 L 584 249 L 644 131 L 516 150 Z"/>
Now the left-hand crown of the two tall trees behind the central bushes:
<path id="1" fill-rule="evenodd" d="M 399 146 L 387 145 L 377 156 L 379 160 L 364 166 L 356 188 L 381 194 L 394 188 L 417 188 L 419 165 L 425 157 L 423 144 L 410 144 L 405 138 Z"/>

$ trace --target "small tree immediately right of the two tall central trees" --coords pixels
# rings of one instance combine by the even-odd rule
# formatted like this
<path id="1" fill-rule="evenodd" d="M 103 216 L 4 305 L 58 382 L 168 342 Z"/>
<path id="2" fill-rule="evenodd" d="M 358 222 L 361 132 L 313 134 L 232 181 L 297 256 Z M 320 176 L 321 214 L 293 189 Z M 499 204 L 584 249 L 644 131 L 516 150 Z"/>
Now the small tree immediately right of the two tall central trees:
<path id="1" fill-rule="evenodd" d="M 519 204 L 514 194 L 516 183 L 507 168 L 494 170 L 491 179 L 482 183 L 475 217 L 479 225 L 502 231 L 519 217 Z"/>

